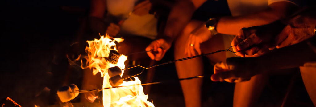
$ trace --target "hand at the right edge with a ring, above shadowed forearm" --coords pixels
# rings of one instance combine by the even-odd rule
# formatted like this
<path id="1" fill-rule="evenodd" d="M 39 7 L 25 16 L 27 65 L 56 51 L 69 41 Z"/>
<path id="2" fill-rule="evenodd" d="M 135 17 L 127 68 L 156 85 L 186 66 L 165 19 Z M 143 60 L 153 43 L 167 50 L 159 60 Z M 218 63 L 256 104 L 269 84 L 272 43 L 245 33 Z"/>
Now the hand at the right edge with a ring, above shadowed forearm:
<path id="1" fill-rule="evenodd" d="M 316 19 L 307 16 L 297 16 L 284 27 L 275 38 L 276 48 L 282 48 L 299 43 L 314 36 Z M 270 48 L 273 49 L 274 47 Z"/>

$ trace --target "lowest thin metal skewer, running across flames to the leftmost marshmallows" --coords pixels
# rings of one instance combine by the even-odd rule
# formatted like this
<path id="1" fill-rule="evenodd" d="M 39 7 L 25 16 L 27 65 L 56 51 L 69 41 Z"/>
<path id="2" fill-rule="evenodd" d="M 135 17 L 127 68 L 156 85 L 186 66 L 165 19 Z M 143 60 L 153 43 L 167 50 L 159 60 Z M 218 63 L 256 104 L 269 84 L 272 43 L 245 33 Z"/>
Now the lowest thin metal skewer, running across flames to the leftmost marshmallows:
<path id="1" fill-rule="evenodd" d="M 182 80 L 190 80 L 193 78 L 204 78 L 204 76 L 193 76 L 193 77 L 188 77 L 188 78 L 180 78 L 177 80 L 170 80 L 170 81 L 162 81 L 162 82 L 151 82 L 151 83 L 144 83 L 144 84 L 134 84 L 134 85 L 128 85 L 128 86 L 136 86 L 136 85 L 153 85 L 153 84 L 160 84 L 160 83 L 171 83 L 171 82 L 179 82 Z M 128 86 L 117 86 L 117 87 L 107 87 L 107 88 L 102 88 L 102 89 L 93 89 L 93 90 L 78 90 L 76 92 L 72 92 L 72 93 L 88 93 L 88 92 L 94 92 L 94 91 L 102 91 L 102 90 L 106 90 L 106 89 L 111 89 L 111 88 L 119 88 L 119 87 L 128 87 Z"/>

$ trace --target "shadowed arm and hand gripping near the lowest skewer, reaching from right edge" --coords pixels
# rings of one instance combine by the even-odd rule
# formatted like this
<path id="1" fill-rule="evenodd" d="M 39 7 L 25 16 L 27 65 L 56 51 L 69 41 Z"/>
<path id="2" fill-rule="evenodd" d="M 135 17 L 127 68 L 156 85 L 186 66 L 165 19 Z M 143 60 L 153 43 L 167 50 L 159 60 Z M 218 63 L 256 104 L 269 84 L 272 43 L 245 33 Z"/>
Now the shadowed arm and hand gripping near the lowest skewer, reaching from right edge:
<path id="1" fill-rule="evenodd" d="M 311 39 L 276 49 L 271 53 L 254 58 L 226 59 L 226 62 L 214 65 L 212 81 L 243 82 L 254 75 L 279 69 L 294 68 L 316 60 L 315 36 Z"/>

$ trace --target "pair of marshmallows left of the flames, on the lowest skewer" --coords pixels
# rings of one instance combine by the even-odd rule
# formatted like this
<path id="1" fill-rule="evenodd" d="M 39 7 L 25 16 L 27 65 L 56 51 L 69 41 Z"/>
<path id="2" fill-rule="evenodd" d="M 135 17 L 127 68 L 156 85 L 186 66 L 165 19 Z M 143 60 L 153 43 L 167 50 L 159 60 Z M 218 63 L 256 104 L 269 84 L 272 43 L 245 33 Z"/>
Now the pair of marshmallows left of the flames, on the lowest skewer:
<path id="1" fill-rule="evenodd" d="M 59 88 L 57 95 L 61 102 L 68 102 L 75 99 L 79 95 L 79 88 L 75 84 L 70 84 L 70 86 L 64 86 Z"/>

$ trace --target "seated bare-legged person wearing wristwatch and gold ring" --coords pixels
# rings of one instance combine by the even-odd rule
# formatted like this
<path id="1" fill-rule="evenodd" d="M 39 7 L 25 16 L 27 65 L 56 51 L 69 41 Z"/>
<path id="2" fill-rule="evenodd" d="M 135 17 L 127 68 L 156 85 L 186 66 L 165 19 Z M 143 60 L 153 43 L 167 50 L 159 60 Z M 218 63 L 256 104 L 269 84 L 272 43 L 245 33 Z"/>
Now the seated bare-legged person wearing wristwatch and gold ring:
<path id="1" fill-rule="evenodd" d="M 211 32 L 204 27 L 205 22 L 190 20 L 191 13 L 202 5 L 205 1 L 191 1 L 188 8 L 177 9 L 175 6 L 167 21 L 164 31 L 165 37 L 161 37 L 146 48 L 146 50 L 155 50 L 158 53 L 148 52 L 151 59 L 160 60 L 171 47 L 174 41 L 174 57 L 181 59 L 194 56 L 201 53 L 215 52 L 223 50 L 230 46 L 230 42 L 241 28 L 257 25 L 269 24 L 273 21 L 285 18 L 292 14 L 299 7 L 290 0 L 227 0 L 232 16 L 212 18 L 207 25 L 211 27 Z M 179 4 L 179 7 L 183 7 Z M 191 8 L 191 9 L 190 9 Z M 190 18 L 182 18 L 190 16 Z M 184 25 L 185 26 L 182 26 Z M 216 33 L 222 33 L 215 35 Z M 235 56 L 231 53 L 215 53 L 207 57 L 213 64 L 223 61 L 228 57 Z M 178 77 L 186 78 L 203 74 L 203 63 L 201 58 L 195 58 L 175 63 Z M 194 71 L 194 72 L 193 72 Z M 263 85 L 253 85 L 254 82 L 263 82 L 265 76 L 254 76 L 252 80 L 243 83 L 237 83 L 234 91 L 234 106 L 253 106 L 258 99 Z M 201 106 L 201 86 L 202 79 L 192 79 L 180 82 L 185 97 L 187 107 Z M 256 89 L 256 90 L 253 90 Z M 254 92 L 256 91 L 256 93 Z"/>

